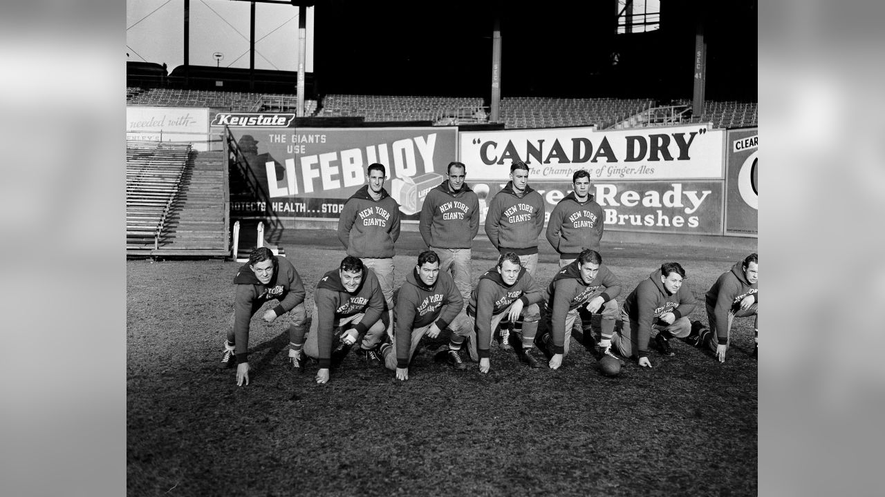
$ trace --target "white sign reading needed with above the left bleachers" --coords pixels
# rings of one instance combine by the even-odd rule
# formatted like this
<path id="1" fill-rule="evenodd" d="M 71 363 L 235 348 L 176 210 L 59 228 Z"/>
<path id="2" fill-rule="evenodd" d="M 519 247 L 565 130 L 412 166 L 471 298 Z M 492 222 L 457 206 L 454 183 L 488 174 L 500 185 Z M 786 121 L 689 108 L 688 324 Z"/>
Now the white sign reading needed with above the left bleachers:
<path id="1" fill-rule="evenodd" d="M 138 105 L 126 108 L 127 140 L 192 142 L 193 149 L 208 150 L 208 136 L 209 109 Z"/>

